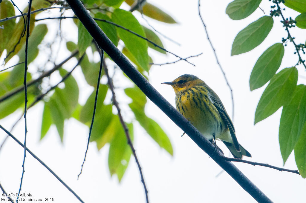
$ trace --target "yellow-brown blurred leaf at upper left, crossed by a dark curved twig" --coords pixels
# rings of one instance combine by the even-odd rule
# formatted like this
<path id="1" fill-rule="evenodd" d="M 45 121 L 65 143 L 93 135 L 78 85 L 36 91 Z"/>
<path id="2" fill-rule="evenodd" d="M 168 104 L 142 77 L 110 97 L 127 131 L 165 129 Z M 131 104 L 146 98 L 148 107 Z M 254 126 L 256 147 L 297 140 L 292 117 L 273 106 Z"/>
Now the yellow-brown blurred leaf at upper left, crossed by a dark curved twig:
<path id="1" fill-rule="evenodd" d="M 31 11 L 33 11 L 33 8 L 31 9 Z M 30 36 L 34 29 L 35 16 L 36 16 L 36 13 L 31 14 L 30 29 L 29 29 Z M 11 35 L 11 38 L 6 44 L 6 51 L 7 51 L 6 55 L 9 54 L 9 56 L 7 56 L 5 59 L 6 62 L 9 61 L 9 59 L 11 59 L 13 56 L 15 56 L 19 52 L 23 44 L 25 43 L 26 34 L 24 34 L 24 36 L 22 37 L 23 31 L 24 31 L 24 21 L 23 21 L 23 18 L 21 18 L 18 21 L 18 23 L 15 25 L 12 31 L 14 34 Z M 20 39 L 20 42 L 19 42 L 19 39 Z"/>

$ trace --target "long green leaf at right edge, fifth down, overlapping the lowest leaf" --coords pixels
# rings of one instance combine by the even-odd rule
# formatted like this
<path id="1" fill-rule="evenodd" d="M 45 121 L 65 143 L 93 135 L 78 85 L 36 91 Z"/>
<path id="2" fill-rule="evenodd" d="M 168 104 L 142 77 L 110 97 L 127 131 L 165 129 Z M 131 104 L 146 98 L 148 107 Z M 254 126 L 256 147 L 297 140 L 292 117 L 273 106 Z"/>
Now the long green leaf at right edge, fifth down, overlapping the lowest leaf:
<path id="1" fill-rule="evenodd" d="M 299 140 L 305 122 L 306 86 L 300 84 L 294 90 L 291 101 L 284 105 L 279 123 L 278 139 L 284 165 Z"/>

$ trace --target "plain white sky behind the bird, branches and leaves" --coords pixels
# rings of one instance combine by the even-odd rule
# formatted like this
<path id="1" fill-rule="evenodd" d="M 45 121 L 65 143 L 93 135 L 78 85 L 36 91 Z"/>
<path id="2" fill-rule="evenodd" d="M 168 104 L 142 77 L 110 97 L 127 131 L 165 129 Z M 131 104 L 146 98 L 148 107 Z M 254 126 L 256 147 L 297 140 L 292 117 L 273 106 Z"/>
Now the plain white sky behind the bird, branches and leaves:
<path id="1" fill-rule="evenodd" d="M 15 3 L 23 8 L 24 2 L 21 4 L 20 2 L 16 1 Z M 170 86 L 160 83 L 172 81 L 185 73 L 194 74 L 215 90 L 231 115 L 230 91 L 218 68 L 200 22 L 198 2 L 189 1 L 187 3 L 186 1 L 174 0 L 148 2 L 159 6 L 179 22 L 179 24 L 169 25 L 147 18 L 158 31 L 181 43 L 181 46 L 177 46 L 161 37 L 166 49 L 181 57 L 203 52 L 201 56 L 190 59 L 192 63 L 196 64 L 196 67 L 184 61 L 161 67 L 152 66 L 149 72 L 151 84 L 174 105 L 174 91 Z M 252 154 L 252 158 L 247 158 L 248 160 L 282 167 L 283 162 L 278 144 L 281 109 L 254 126 L 256 105 L 267 85 L 253 92 L 250 92 L 248 85 L 250 73 L 258 57 L 272 44 L 281 42 L 282 37 L 287 37 L 285 29 L 279 22 L 281 17 L 274 18 L 274 27 L 261 45 L 248 53 L 231 57 L 230 51 L 234 37 L 249 23 L 262 17 L 263 12 L 257 9 L 248 18 L 234 21 L 225 14 L 228 2 L 218 1 L 218 6 L 214 3 L 215 1 L 201 2 L 203 20 L 207 25 L 219 61 L 233 89 L 234 125 L 238 141 Z M 270 6 L 271 2 L 269 1 L 263 1 L 260 4 L 266 15 L 270 13 Z M 52 13 L 56 13 L 55 9 Z M 291 9 L 283 13 L 288 18 L 295 18 L 298 15 Z M 41 17 L 46 15 L 48 15 L 47 12 L 40 14 Z M 72 16 L 72 13 L 68 11 L 66 15 Z M 137 12 L 134 12 L 134 15 L 140 20 L 141 24 L 146 25 Z M 40 23 L 48 22 L 50 23 L 48 28 L 52 34 L 48 35 L 45 41 L 48 38 L 50 39 L 58 28 L 57 21 Z M 71 24 L 70 20 L 62 22 L 62 34 L 65 39 L 76 42 L 77 30 L 75 27 L 71 27 Z M 305 30 L 292 28 L 290 32 L 292 36 L 296 37 L 297 44 L 305 42 Z M 64 46 L 65 43 L 62 42 L 57 62 L 62 61 L 69 55 Z M 285 55 L 280 69 L 291 67 L 297 63 L 298 57 L 293 55 L 293 52 L 293 46 L 288 43 L 288 46 L 285 47 Z M 150 55 L 155 63 L 176 60 L 169 54 L 165 57 L 153 50 L 150 51 Z M 46 56 L 41 55 L 41 57 Z M 11 63 L 14 64 L 14 62 Z M 75 63 L 76 60 L 72 60 L 64 67 L 70 70 Z M 9 64 L 7 65 L 9 66 Z M 39 65 L 42 64 L 39 60 L 36 60 L 30 67 L 30 71 L 35 70 L 35 67 Z M 299 76 L 305 76 L 304 68 L 301 65 L 297 68 Z M 116 71 L 114 85 L 125 87 L 127 83 L 121 82 L 120 72 L 121 70 Z M 73 72 L 73 76 L 77 78 L 80 88 L 82 88 L 79 101 L 84 104 L 93 88 L 85 85 L 84 78 L 80 76 L 80 73 L 80 68 L 77 68 Z M 102 81 L 105 81 L 105 79 Z M 300 83 L 305 83 L 305 79 L 299 77 L 298 84 Z M 108 98 L 110 98 L 110 95 L 108 95 Z M 129 100 L 122 97 L 121 90 L 118 90 L 117 98 L 126 120 L 131 120 L 132 113 L 126 108 Z M 82 175 L 77 180 L 84 159 L 88 127 L 70 119 L 65 122 L 63 143 L 60 142 L 55 126 L 52 126 L 46 137 L 39 141 L 42 110 L 43 105 L 39 103 L 37 107 L 28 111 L 27 147 L 57 173 L 85 202 L 145 202 L 144 189 L 133 157 L 130 159 L 129 167 L 120 184 L 115 175 L 110 177 L 107 165 L 108 145 L 98 151 L 95 143 L 90 143 Z M 21 113 L 22 111 L 19 110 L 2 119 L 0 121 L 1 125 L 10 129 Z M 187 135 L 181 137 L 182 130 L 151 101 L 147 102 L 146 113 L 166 131 L 174 148 L 174 156 L 171 157 L 146 134 L 137 122 L 134 123 L 134 146 L 143 168 L 150 202 L 256 202 L 226 172 L 216 177 L 222 169 Z M 19 122 L 12 133 L 23 142 L 24 123 Z M 5 133 L 0 131 L 0 142 L 5 137 Z M 222 148 L 225 154 L 228 154 L 222 143 L 219 143 L 218 146 Z M 17 193 L 22 172 L 23 148 L 9 138 L 0 153 L 0 160 L 2 186 L 7 193 Z M 243 163 L 234 164 L 274 202 L 302 202 L 305 198 L 306 182 L 299 175 Z M 285 168 L 297 169 L 293 153 L 285 164 Z M 79 202 L 30 154 L 27 154 L 26 158 L 21 192 L 31 193 L 35 198 L 54 197 L 54 202 Z"/>

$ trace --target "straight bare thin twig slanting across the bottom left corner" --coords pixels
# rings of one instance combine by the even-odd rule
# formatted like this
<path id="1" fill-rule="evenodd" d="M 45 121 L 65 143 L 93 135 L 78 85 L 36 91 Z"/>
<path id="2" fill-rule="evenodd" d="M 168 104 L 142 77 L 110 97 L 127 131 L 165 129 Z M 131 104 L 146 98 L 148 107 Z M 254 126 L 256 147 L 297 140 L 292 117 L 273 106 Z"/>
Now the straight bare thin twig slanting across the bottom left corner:
<path id="1" fill-rule="evenodd" d="M 24 145 L 14 136 L 12 135 L 9 131 L 7 131 L 4 127 L 2 127 L 2 125 L 0 125 L 0 128 L 6 132 L 7 135 L 9 135 L 11 138 L 13 138 L 20 146 L 22 146 L 23 148 Z M 30 149 L 26 148 L 26 150 L 28 151 L 29 154 L 32 155 L 32 157 L 34 157 L 37 161 L 39 161 L 40 164 L 42 164 L 45 168 L 47 168 L 47 170 L 55 176 L 56 179 L 58 179 L 59 182 L 61 182 L 80 202 L 84 203 L 84 201 L 64 182 L 62 181 L 62 179 L 60 177 L 58 177 L 58 175 L 56 175 L 56 173 L 54 173 L 51 168 L 49 168 L 43 161 L 41 161 L 33 152 L 30 151 Z"/>

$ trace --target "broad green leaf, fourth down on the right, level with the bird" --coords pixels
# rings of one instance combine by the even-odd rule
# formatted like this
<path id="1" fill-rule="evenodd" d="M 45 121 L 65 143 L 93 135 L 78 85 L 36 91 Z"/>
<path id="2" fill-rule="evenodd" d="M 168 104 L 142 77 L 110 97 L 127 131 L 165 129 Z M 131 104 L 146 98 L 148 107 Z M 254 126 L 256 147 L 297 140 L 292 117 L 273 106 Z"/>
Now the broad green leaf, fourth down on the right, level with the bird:
<path id="1" fill-rule="evenodd" d="M 297 85 L 297 68 L 284 68 L 274 75 L 258 102 L 254 124 L 271 116 L 290 101 Z"/>

